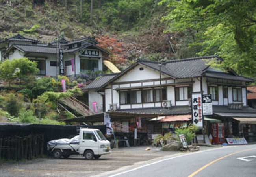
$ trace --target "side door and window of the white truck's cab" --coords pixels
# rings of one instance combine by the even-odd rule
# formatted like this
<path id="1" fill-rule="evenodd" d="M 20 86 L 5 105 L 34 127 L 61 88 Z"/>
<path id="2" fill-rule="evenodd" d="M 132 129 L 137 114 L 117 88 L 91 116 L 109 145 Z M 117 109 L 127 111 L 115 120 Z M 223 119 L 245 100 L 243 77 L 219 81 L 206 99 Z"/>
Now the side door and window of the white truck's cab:
<path id="1" fill-rule="evenodd" d="M 80 140 L 80 154 L 83 153 L 86 149 L 91 149 L 93 150 L 94 154 L 98 154 L 98 144 L 99 142 L 93 131 L 84 130 L 82 134 L 82 140 Z"/>

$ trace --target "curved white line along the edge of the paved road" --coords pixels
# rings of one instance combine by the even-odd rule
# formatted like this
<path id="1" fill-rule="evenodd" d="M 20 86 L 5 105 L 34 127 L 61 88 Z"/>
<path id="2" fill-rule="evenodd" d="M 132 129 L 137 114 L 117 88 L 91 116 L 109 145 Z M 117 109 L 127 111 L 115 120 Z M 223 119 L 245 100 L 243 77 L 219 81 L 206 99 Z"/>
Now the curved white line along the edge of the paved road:
<path id="1" fill-rule="evenodd" d="M 230 147 L 238 147 L 238 146 L 228 146 L 228 147 L 225 146 L 225 147 L 220 147 L 220 148 L 217 148 L 217 149 L 224 149 L 224 148 L 230 148 Z M 121 172 L 121 173 L 117 173 L 117 174 L 111 175 L 111 176 L 109 176 L 109 177 L 115 177 L 115 176 L 118 176 L 118 175 L 122 175 L 122 174 L 124 174 L 124 173 L 128 173 L 128 172 L 131 172 L 131 171 L 135 171 L 135 170 L 138 170 L 138 169 L 140 169 L 140 168 L 144 168 L 144 167 L 146 167 L 146 166 L 154 165 L 154 164 L 157 164 L 157 163 L 159 163 L 159 162 L 163 162 L 163 161 L 165 161 L 165 160 L 176 159 L 176 158 L 178 158 L 178 157 L 183 157 L 183 156 L 187 156 L 187 155 L 193 155 L 193 154 L 196 154 L 196 153 L 203 153 L 203 152 L 213 151 L 213 150 L 216 150 L 216 149 L 208 149 L 208 150 L 205 150 L 205 151 L 197 151 L 197 152 L 194 152 L 194 153 L 188 153 L 188 154 L 184 154 L 184 155 L 178 155 L 178 156 L 175 156 L 175 157 L 170 157 L 170 158 L 167 158 L 167 159 L 158 160 L 158 161 L 156 161 L 156 162 L 152 162 L 152 163 L 147 164 L 147 165 L 139 166 L 139 167 L 134 168 L 134 169 L 131 169 L 131 170 L 123 171 L 123 172 Z"/>

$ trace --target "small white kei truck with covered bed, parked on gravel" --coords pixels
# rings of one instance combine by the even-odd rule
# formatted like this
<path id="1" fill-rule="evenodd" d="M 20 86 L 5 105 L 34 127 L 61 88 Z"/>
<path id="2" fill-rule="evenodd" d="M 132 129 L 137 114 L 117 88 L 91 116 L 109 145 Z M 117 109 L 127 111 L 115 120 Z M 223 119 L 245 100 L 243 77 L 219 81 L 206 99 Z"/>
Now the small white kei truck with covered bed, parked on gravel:
<path id="1" fill-rule="evenodd" d="M 85 159 L 98 159 L 109 154 L 110 142 L 98 129 L 81 128 L 79 135 L 71 139 L 58 139 L 47 142 L 47 150 L 55 158 L 68 158 L 79 154 Z"/>

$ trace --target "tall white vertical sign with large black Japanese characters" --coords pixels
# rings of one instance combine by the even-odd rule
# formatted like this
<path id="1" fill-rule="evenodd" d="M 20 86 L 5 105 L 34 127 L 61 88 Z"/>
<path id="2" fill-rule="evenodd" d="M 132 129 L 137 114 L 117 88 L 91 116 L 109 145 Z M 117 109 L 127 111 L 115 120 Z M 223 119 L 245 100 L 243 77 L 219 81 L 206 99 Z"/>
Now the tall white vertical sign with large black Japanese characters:
<path id="1" fill-rule="evenodd" d="M 192 118 L 193 124 L 197 127 L 203 127 L 203 113 L 202 113 L 202 95 L 201 93 L 192 93 Z"/>

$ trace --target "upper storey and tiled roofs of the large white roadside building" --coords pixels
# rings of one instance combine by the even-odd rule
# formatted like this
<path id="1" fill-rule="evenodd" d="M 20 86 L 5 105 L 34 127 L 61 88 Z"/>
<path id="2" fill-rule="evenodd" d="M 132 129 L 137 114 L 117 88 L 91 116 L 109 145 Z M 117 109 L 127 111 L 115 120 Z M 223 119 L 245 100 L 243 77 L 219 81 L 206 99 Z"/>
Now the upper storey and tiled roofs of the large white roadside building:
<path id="1" fill-rule="evenodd" d="M 253 79 L 233 70 L 215 70 L 207 64 L 211 59 L 222 60 L 217 56 L 172 60 L 161 64 L 161 72 L 158 62 L 138 60 L 123 72 L 102 76 L 84 89 L 89 92 L 89 99 L 101 105 L 99 112 L 129 112 L 134 116 L 191 115 L 191 93 L 211 94 L 210 118 L 221 120 L 239 134 L 240 124 L 233 118 L 256 118 L 256 110 L 247 106 L 246 86 Z M 242 107 L 232 109 L 234 104 Z"/>

